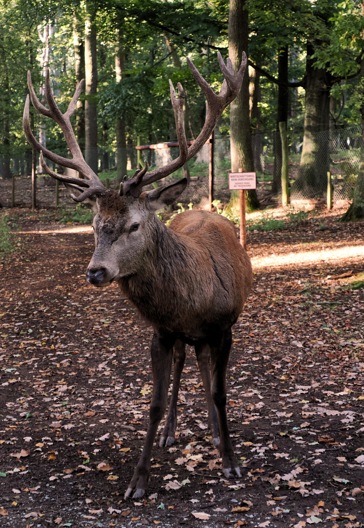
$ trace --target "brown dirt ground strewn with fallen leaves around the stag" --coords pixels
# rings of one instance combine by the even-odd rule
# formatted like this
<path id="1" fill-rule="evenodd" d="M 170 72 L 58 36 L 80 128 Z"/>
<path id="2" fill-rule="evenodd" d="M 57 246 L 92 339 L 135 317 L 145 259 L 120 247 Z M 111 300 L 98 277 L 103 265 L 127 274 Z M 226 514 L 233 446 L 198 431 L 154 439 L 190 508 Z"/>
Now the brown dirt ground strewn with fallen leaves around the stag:
<path id="1" fill-rule="evenodd" d="M 341 212 L 248 233 L 255 282 L 228 370 L 242 477 L 222 474 L 190 349 L 178 438 L 157 441 L 145 497 L 125 501 L 146 432 L 151 329 L 116 286 L 87 285 L 90 227 L 12 210 L 16 250 L 0 264 L 0 525 L 364 526 L 364 223 L 339 224 Z"/>

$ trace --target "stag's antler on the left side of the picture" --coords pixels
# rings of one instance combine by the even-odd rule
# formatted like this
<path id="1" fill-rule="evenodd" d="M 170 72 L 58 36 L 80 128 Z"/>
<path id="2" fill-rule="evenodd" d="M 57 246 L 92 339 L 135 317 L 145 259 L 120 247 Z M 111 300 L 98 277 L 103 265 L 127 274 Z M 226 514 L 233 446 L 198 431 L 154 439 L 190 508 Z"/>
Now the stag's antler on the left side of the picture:
<path id="1" fill-rule="evenodd" d="M 100 196 L 107 192 L 106 187 L 102 184 L 102 182 L 93 172 L 91 167 L 89 167 L 85 162 L 81 149 L 77 144 L 77 140 L 71 125 L 71 116 L 73 115 L 74 109 L 76 107 L 78 97 L 80 97 L 83 84 L 84 80 L 82 80 L 78 84 L 74 96 L 70 104 L 68 105 L 67 111 L 65 112 L 65 114 L 62 114 L 61 110 L 56 105 L 52 94 L 50 71 L 47 69 L 45 77 L 45 96 L 49 109 L 43 106 L 42 103 L 38 100 L 35 90 L 33 88 L 31 72 L 28 71 L 28 88 L 31 94 L 33 106 L 36 110 L 38 110 L 38 112 L 40 112 L 40 114 L 42 114 L 43 116 L 51 117 L 60 126 L 68 148 L 70 149 L 71 154 L 73 156 L 72 159 L 64 158 L 63 156 L 58 156 L 54 152 L 51 152 L 51 150 L 48 150 L 43 145 L 41 145 L 34 137 L 29 120 L 29 96 L 26 97 L 23 113 L 23 129 L 25 136 L 28 142 L 33 146 L 33 148 L 41 153 L 40 162 L 44 171 L 56 180 L 64 182 L 65 184 L 68 184 L 68 186 L 76 188 L 80 192 L 83 191 L 82 194 L 78 197 L 72 195 L 73 199 L 77 202 L 82 202 L 88 196 Z M 43 155 L 50 159 L 52 162 L 57 163 L 58 165 L 74 169 L 75 171 L 82 174 L 86 178 L 86 180 L 82 180 L 81 178 L 76 178 L 72 176 L 64 176 L 61 174 L 57 174 L 46 165 L 43 159 Z M 86 187 L 87 189 L 86 191 L 84 191 L 80 187 Z"/>

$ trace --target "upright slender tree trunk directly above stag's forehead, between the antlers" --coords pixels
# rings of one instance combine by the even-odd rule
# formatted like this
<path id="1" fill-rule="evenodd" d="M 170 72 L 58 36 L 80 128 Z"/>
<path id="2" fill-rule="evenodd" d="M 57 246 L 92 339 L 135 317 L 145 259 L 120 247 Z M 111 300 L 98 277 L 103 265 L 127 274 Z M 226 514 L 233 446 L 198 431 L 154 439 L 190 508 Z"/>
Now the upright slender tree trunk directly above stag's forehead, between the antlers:
<path id="1" fill-rule="evenodd" d="M 117 30 L 117 50 L 115 54 L 115 73 L 116 82 L 121 82 L 123 79 L 123 73 L 125 71 L 125 51 L 123 48 L 123 20 L 120 23 L 120 27 Z M 124 176 L 126 176 L 127 166 L 127 149 L 126 149 L 126 130 L 125 121 L 120 117 L 116 118 L 116 179 L 117 183 L 121 183 Z"/>

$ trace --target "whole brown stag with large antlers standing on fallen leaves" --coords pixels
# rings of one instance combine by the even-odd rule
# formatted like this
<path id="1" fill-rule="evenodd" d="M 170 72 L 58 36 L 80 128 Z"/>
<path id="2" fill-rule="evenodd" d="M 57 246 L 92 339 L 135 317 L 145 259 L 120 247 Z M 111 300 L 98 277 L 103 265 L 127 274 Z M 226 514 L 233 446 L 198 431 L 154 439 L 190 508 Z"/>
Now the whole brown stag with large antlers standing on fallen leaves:
<path id="1" fill-rule="evenodd" d="M 71 190 L 72 199 L 92 206 L 95 251 L 86 270 L 89 284 L 102 288 L 116 282 L 121 292 L 152 326 L 151 366 L 153 391 L 144 447 L 126 498 L 144 495 L 151 472 L 154 440 L 164 416 L 173 363 L 173 386 L 168 416 L 160 446 L 175 439 L 176 404 L 185 360 L 186 344 L 194 347 L 208 403 L 208 423 L 213 444 L 220 449 L 226 478 L 240 477 L 227 418 L 226 372 L 232 345 L 232 326 L 242 312 L 252 286 L 250 258 L 238 241 L 234 225 L 215 212 L 192 209 L 175 216 L 169 227 L 156 212 L 171 205 L 184 191 L 185 178 L 166 186 L 143 191 L 162 180 L 191 159 L 209 139 L 231 101 L 237 97 L 247 65 L 245 53 L 237 73 L 218 53 L 224 77 L 220 92 L 210 87 L 194 64 L 187 59 L 192 76 L 208 102 L 208 114 L 200 134 L 188 146 L 184 128 L 185 91 L 178 83 L 178 96 L 170 80 L 179 156 L 167 165 L 148 172 L 145 164 L 120 184 L 107 189 L 85 162 L 71 125 L 71 116 L 83 81 L 64 114 L 58 108 L 46 73 L 48 108 L 38 100 L 28 72 L 28 88 L 35 109 L 60 126 L 72 158 L 59 156 L 38 143 L 29 120 L 26 98 L 23 128 L 28 142 L 40 153 L 44 171 Z M 77 171 L 80 177 L 58 174 L 44 157 Z"/>

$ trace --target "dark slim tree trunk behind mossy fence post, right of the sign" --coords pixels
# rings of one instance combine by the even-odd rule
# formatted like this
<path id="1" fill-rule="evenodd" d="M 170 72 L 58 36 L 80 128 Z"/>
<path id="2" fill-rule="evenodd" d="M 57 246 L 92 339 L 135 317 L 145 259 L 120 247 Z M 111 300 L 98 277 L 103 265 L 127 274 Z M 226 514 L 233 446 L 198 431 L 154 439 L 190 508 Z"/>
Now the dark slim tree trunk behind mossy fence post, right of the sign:
<path id="1" fill-rule="evenodd" d="M 282 142 L 279 131 L 279 123 L 286 122 L 288 118 L 288 46 L 278 54 L 278 108 L 277 108 L 277 128 L 273 136 L 273 183 L 272 193 L 278 194 L 282 190 Z"/>

